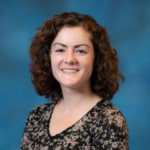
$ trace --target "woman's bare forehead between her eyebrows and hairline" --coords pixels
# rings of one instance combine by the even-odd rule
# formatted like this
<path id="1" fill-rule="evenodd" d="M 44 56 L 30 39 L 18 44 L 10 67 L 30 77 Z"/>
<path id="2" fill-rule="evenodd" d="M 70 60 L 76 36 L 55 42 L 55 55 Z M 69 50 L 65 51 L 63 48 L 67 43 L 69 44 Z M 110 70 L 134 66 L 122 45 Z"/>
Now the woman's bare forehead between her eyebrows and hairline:
<path id="1" fill-rule="evenodd" d="M 83 27 L 63 27 L 60 29 L 52 44 L 62 42 L 64 44 L 88 44 L 91 42 L 91 34 Z"/>

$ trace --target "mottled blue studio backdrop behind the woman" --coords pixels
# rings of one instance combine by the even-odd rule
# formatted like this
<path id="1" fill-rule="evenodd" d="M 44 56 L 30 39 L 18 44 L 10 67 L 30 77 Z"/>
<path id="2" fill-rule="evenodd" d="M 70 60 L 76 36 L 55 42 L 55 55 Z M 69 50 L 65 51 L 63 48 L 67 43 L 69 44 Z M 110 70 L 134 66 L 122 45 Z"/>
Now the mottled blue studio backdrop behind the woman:
<path id="1" fill-rule="evenodd" d="M 150 0 L 1 0 L 0 149 L 19 150 L 29 111 L 48 102 L 30 81 L 30 39 L 44 21 L 66 11 L 89 14 L 106 27 L 125 76 L 112 102 L 127 120 L 130 149 L 148 150 Z"/>

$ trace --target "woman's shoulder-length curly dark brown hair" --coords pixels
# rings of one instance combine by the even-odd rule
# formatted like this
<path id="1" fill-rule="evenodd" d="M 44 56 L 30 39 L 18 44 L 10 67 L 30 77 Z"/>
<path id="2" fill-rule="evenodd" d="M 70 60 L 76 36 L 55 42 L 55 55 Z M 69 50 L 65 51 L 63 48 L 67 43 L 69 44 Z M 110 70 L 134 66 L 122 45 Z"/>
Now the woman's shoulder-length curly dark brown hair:
<path id="1" fill-rule="evenodd" d="M 53 101 L 63 97 L 60 84 L 52 74 L 50 48 L 64 26 L 83 27 L 91 34 L 95 53 L 91 87 L 98 96 L 111 100 L 118 91 L 118 80 L 124 82 L 124 77 L 118 70 L 117 52 L 110 45 L 105 28 L 91 16 L 75 12 L 54 15 L 37 29 L 30 46 L 30 72 L 35 91 Z"/>

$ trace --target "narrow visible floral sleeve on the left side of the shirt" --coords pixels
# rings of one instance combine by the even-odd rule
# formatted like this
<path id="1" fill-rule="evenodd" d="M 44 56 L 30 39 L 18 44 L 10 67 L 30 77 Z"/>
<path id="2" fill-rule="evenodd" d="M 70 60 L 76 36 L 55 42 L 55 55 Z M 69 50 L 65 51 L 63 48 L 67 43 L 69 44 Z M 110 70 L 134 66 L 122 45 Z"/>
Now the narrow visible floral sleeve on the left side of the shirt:
<path id="1" fill-rule="evenodd" d="M 20 150 L 27 150 L 32 147 L 31 145 L 33 143 L 33 140 L 32 140 L 31 133 L 34 130 L 33 118 L 34 118 L 34 109 L 29 113 L 26 119 Z"/>

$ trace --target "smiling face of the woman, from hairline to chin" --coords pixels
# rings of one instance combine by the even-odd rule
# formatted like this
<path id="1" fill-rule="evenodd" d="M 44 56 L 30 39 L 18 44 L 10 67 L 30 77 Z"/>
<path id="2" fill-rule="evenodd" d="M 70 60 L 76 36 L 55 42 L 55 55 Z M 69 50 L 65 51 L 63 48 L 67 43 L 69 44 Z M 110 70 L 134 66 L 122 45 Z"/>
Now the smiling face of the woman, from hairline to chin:
<path id="1" fill-rule="evenodd" d="M 94 48 L 90 33 L 82 27 L 63 27 L 51 44 L 53 76 L 61 87 L 90 85 Z"/>

